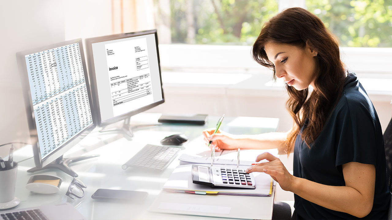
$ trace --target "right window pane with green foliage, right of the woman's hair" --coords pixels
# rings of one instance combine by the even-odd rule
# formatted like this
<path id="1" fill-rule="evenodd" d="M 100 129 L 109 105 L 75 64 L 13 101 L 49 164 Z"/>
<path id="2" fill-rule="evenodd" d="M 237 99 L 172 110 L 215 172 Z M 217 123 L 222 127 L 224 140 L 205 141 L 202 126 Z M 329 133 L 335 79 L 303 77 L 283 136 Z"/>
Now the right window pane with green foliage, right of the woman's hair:
<path id="1" fill-rule="evenodd" d="M 392 47 L 392 0 L 306 0 L 342 47 Z"/>

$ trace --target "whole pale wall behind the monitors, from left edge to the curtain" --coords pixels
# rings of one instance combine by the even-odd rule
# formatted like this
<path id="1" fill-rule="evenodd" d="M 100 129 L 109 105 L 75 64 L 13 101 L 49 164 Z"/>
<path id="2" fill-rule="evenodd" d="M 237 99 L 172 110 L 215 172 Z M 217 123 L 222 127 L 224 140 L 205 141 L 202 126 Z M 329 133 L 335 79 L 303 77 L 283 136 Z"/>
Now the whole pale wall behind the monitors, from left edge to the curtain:
<path id="1" fill-rule="evenodd" d="M 74 38 L 111 34 L 110 8 L 111 1 L 107 0 L 1 1 L 0 144 L 29 142 L 16 52 Z M 8 151 L 5 148 L 0 148 L 0 156 Z"/>

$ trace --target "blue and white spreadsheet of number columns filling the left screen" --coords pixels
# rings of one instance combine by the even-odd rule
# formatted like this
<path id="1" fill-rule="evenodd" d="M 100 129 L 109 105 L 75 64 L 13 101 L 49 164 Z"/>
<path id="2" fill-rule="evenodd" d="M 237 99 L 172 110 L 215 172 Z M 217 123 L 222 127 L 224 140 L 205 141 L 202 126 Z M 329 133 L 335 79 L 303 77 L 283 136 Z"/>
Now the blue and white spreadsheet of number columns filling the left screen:
<path id="1" fill-rule="evenodd" d="M 41 157 L 92 123 L 78 43 L 25 56 Z"/>

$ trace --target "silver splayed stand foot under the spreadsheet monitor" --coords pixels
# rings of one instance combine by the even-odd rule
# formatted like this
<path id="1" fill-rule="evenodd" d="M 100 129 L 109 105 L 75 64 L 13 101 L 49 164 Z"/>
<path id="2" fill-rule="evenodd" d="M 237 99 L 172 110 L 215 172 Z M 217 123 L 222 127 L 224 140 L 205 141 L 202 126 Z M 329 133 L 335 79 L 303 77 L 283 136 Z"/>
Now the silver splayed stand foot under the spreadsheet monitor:
<path id="1" fill-rule="evenodd" d="M 42 167 L 42 168 L 31 168 L 30 170 L 27 170 L 27 172 L 29 173 L 33 173 L 36 171 L 40 171 L 40 170 L 46 170 L 46 169 L 58 169 L 63 171 L 64 173 L 67 173 L 68 175 L 71 175 L 73 177 L 78 177 L 78 174 L 75 173 L 75 171 L 73 171 L 68 165 L 74 162 L 78 162 L 80 160 L 86 160 L 86 159 L 90 159 L 93 157 L 98 157 L 99 155 L 88 155 L 88 156 L 82 156 L 82 157 L 70 157 L 70 158 L 63 158 L 63 156 L 57 158 L 56 160 L 54 160 L 53 162 L 51 162 L 50 164 Z"/>

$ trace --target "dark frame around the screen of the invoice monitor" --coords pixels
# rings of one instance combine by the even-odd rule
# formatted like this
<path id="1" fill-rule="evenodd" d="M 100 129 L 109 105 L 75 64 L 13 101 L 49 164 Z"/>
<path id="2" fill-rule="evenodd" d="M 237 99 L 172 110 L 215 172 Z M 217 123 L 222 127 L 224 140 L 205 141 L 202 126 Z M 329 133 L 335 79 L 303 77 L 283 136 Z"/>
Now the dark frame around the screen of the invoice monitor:
<path id="1" fill-rule="evenodd" d="M 143 106 L 142 108 L 138 108 L 135 110 L 132 110 L 130 112 L 114 116 L 110 119 L 106 119 L 105 121 L 102 121 L 101 118 L 101 110 L 100 110 L 100 105 L 99 105 L 99 98 L 98 98 L 98 88 L 97 88 L 97 81 L 96 81 L 96 74 L 95 74 L 95 65 L 94 65 L 94 56 L 93 56 L 93 43 L 100 43 L 103 41 L 111 41 L 111 40 L 119 40 L 123 38 L 131 38 L 131 37 L 136 37 L 136 36 L 142 36 L 142 35 L 147 35 L 147 34 L 154 34 L 155 36 L 155 46 L 156 46 L 156 55 L 158 58 L 158 71 L 159 71 L 159 79 L 161 83 L 161 93 L 162 93 L 162 100 L 151 103 L 150 105 Z M 132 115 L 136 115 L 140 112 L 144 112 L 145 110 L 148 110 L 150 108 L 153 108 L 157 105 L 160 105 L 165 102 L 165 97 L 163 95 L 163 87 L 162 87 L 162 72 L 161 72 L 161 65 L 160 65 L 160 57 L 159 57 L 159 49 L 158 49 L 158 34 L 156 29 L 153 30 L 148 30 L 148 31 L 138 31 L 138 32 L 130 32 L 130 33 L 123 33 L 123 34 L 113 34 L 113 35 L 107 35 L 107 36 L 100 36 L 96 38 L 87 38 L 85 39 L 85 45 L 86 45 L 86 54 L 87 54 L 87 64 L 89 67 L 89 82 L 91 85 L 91 94 L 93 96 L 93 106 L 94 106 L 94 114 L 93 114 L 93 121 L 96 126 L 107 126 L 109 124 L 116 123 L 118 121 L 122 121 L 124 119 L 128 119 Z"/>

